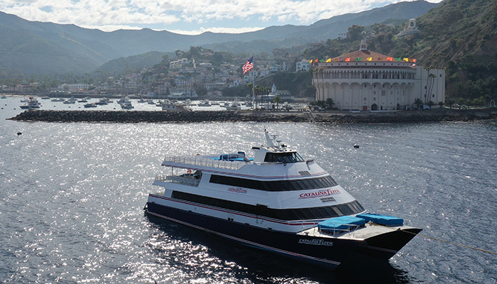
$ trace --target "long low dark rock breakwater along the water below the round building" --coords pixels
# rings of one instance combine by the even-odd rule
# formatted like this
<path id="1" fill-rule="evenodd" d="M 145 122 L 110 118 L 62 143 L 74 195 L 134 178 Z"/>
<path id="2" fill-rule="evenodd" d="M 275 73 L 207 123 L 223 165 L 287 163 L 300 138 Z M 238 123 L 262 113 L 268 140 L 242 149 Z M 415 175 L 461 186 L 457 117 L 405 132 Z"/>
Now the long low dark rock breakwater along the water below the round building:
<path id="1" fill-rule="evenodd" d="M 396 123 L 427 121 L 477 121 L 497 119 L 497 108 L 433 109 L 427 111 L 333 111 L 313 113 L 322 123 Z M 309 115 L 298 111 L 55 111 L 28 110 L 14 116 L 17 121 L 52 122 L 308 122 Z"/>

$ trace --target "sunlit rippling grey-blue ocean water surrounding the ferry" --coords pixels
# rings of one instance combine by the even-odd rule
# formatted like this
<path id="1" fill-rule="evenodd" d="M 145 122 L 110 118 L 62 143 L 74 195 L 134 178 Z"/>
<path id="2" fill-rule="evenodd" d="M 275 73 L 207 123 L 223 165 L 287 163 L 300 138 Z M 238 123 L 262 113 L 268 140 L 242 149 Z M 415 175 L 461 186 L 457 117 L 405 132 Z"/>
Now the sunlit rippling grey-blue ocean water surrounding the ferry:
<path id="1" fill-rule="evenodd" d="M 497 121 L 31 123 L 0 104 L 0 283 L 497 283 Z M 263 129 L 422 236 L 330 272 L 143 213 L 165 155 L 250 155 Z"/>

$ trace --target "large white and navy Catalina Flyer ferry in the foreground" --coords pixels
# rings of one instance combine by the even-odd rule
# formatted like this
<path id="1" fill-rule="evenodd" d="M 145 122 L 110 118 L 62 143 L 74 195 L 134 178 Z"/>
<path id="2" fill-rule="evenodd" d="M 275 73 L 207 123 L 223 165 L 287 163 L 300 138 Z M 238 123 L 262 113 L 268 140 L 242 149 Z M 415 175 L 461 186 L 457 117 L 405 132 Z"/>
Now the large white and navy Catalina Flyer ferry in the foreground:
<path id="1" fill-rule="evenodd" d="M 386 261 L 421 231 L 368 213 L 314 160 L 265 136 L 253 158 L 166 157 L 146 213 L 329 269 L 364 254 Z"/>

